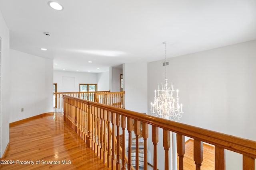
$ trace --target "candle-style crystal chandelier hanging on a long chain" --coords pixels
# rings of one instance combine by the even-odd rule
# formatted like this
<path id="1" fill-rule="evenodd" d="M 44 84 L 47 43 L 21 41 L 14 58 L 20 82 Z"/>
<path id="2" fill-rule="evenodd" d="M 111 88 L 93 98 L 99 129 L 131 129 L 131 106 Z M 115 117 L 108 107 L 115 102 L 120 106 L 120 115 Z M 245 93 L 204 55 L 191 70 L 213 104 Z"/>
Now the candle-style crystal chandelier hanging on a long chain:
<path id="1" fill-rule="evenodd" d="M 172 120 L 172 121 L 178 121 L 182 117 L 183 111 L 182 111 L 182 104 L 179 104 L 179 96 L 178 92 L 179 90 L 176 90 L 177 97 L 174 99 L 174 89 L 173 84 L 171 84 L 171 88 L 169 88 L 167 85 L 167 77 L 166 77 L 166 42 L 163 42 L 165 44 L 165 81 L 164 81 L 164 87 L 162 84 L 162 90 L 159 88 L 158 84 L 158 90 L 155 90 L 155 97 L 154 97 L 154 103 L 151 102 L 151 113 L 152 115 L 156 117 L 161 117 L 164 119 Z"/>

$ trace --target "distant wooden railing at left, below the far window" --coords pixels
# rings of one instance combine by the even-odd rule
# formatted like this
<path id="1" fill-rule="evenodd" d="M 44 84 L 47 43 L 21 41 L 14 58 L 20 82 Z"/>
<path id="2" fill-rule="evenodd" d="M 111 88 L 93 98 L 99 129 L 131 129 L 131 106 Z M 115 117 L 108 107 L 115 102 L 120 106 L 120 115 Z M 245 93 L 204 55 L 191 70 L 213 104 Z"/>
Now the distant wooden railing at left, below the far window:
<path id="1" fill-rule="evenodd" d="M 53 99 L 54 99 L 54 108 L 56 109 L 56 112 L 62 112 L 63 111 L 63 96 L 72 96 L 88 101 L 95 101 L 94 94 L 102 94 L 102 93 L 109 93 L 110 91 L 98 91 L 98 92 L 56 92 L 53 93 Z"/>

